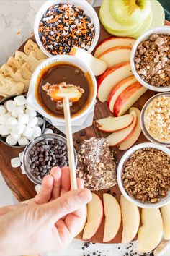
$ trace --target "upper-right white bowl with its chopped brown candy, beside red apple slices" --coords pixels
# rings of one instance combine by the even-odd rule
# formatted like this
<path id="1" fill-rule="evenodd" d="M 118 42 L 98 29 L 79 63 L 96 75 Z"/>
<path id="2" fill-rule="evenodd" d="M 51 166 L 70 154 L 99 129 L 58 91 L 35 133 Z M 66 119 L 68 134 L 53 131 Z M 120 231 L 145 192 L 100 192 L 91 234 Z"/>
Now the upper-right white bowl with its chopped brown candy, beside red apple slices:
<path id="1" fill-rule="evenodd" d="M 170 26 L 146 31 L 134 43 L 130 64 L 141 85 L 156 92 L 170 91 Z"/>

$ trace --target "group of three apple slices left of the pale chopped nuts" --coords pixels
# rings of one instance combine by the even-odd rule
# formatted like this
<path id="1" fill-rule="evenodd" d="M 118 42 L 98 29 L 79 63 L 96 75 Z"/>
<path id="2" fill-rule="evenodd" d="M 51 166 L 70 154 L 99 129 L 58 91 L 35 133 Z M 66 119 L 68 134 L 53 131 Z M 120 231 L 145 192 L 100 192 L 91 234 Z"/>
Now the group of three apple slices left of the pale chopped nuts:
<path id="1" fill-rule="evenodd" d="M 127 150 L 140 136 L 140 111 L 138 108 L 130 108 L 130 114 L 99 119 L 94 121 L 94 125 L 102 132 L 112 132 L 107 137 L 110 147 Z"/>

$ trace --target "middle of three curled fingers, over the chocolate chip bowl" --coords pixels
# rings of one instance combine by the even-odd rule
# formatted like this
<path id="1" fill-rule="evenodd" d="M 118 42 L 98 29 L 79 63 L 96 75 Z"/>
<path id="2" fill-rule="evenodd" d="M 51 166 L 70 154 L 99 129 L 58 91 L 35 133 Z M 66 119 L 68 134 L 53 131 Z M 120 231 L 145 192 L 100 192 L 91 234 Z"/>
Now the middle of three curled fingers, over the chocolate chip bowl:
<path id="1" fill-rule="evenodd" d="M 53 176 L 53 192 L 51 199 L 58 198 L 61 194 L 61 168 L 55 166 L 51 169 L 50 175 Z"/>

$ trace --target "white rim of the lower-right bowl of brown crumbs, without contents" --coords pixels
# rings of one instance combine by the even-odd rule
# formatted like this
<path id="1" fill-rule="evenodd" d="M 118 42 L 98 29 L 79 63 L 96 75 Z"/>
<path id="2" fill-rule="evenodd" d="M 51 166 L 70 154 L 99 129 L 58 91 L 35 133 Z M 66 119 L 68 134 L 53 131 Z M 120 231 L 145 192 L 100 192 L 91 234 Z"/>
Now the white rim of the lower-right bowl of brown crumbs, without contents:
<path id="1" fill-rule="evenodd" d="M 139 150 L 140 148 L 156 148 L 158 150 L 164 151 L 164 153 L 166 153 L 167 155 L 170 156 L 169 148 L 166 148 L 162 145 L 156 145 L 156 144 L 153 144 L 153 143 L 150 143 L 150 142 L 135 145 L 133 148 L 130 148 L 120 159 L 120 163 L 117 167 L 117 183 L 118 183 L 118 186 L 120 188 L 120 191 L 122 192 L 122 195 L 124 195 L 124 197 L 129 202 L 132 202 L 134 205 L 137 205 L 140 208 L 160 208 L 163 205 L 166 205 L 170 202 L 170 191 L 168 192 L 167 197 L 161 198 L 161 200 L 159 202 L 156 202 L 156 203 L 144 202 L 144 203 L 142 203 L 139 200 L 135 200 L 135 198 L 130 197 L 130 195 L 128 195 L 128 193 L 125 191 L 125 188 L 122 184 L 122 168 L 123 168 L 123 165 L 124 165 L 125 161 L 127 161 L 128 158 L 130 158 L 130 155 L 132 155 L 136 150 Z"/>

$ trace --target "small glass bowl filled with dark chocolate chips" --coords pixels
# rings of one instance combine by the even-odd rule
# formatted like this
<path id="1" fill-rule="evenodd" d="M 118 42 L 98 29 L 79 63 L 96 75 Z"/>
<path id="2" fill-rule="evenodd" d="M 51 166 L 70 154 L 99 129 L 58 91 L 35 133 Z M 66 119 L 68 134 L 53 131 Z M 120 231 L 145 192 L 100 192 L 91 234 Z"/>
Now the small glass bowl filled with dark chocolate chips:
<path id="1" fill-rule="evenodd" d="M 74 158 L 77 164 L 76 150 Z M 35 184 L 41 184 L 51 168 L 68 166 L 66 138 L 55 134 L 41 135 L 27 145 L 23 159 L 28 178 Z"/>

